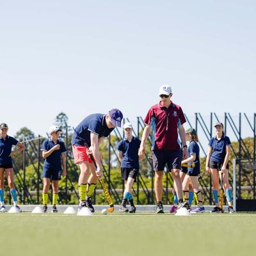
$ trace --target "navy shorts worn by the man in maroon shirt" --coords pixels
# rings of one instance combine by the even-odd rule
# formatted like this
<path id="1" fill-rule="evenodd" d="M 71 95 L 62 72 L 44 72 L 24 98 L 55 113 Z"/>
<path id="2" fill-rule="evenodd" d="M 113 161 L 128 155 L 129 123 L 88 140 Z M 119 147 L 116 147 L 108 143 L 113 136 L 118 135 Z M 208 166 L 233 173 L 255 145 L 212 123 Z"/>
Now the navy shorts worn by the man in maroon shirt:
<path id="1" fill-rule="evenodd" d="M 164 166 L 168 170 L 180 169 L 182 161 L 181 150 L 152 150 L 154 171 L 163 171 Z"/>

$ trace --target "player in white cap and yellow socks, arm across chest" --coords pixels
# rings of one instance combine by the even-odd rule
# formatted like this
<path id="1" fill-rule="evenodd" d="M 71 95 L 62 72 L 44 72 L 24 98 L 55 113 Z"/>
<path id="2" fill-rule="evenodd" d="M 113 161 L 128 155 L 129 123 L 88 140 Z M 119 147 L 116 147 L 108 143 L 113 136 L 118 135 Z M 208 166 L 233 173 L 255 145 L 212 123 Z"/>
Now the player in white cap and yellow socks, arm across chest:
<path id="1" fill-rule="evenodd" d="M 66 177 L 66 152 L 67 149 L 63 141 L 59 139 L 61 129 L 52 125 L 49 129 L 51 137 L 42 144 L 42 156 L 45 159 L 43 166 L 44 188 L 43 188 L 43 211 L 47 212 L 48 191 L 52 180 L 52 211 L 58 212 L 58 189 L 61 174 Z M 61 168 L 63 167 L 63 171 Z"/>

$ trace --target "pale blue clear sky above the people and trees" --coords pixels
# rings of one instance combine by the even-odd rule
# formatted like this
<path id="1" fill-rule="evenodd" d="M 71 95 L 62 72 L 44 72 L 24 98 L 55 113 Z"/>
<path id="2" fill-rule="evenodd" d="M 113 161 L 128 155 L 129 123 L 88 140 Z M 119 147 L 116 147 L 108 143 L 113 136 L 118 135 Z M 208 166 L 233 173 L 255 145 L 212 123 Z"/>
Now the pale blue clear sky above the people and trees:
<path id="1" fill-rule="evenodd" d="M 135 120 L 161 84 L 188 116 L 255 112 L 255 1 L 2 1 L 0 122 L 45 134 L 120 108 Z"/>

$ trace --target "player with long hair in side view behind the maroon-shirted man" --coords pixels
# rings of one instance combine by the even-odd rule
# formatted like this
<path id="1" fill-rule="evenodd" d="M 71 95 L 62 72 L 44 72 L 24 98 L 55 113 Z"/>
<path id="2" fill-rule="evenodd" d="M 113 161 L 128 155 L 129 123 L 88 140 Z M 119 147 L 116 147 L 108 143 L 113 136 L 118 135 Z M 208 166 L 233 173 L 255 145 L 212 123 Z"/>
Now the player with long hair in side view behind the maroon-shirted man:
<path id="1" fill-rule="evenodd" d="M 191 182 L 192 188 L 195 193 L 196 201 L 198 206 L 196 209 L 193 209 L 191 213 L 202 213 L 205 212 L 205 208 L 202 202 L 202 195 L 199 189 L 198 175 L 200 175 L 200 148 L 197 144 L 198 136 L 196 134 L 195 129 L 190 128 L 186 131 L 186 141 L 189 141 L 188 147 L 188 158 L 184 159 L 181 164 L 193 164 L 195 163 L 195 167 L 188 167 L 188 172 L 184 177 L 182 182 L 182 189 L 184 193 L 184 198 L 186 202 L 189 200 L 189 183 Z M 190 198 L 191 199 L 191 198 Z M 191 204 L 191 202 L 189 202 Z"/>

